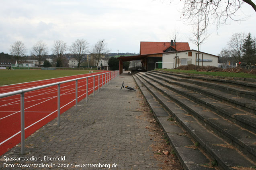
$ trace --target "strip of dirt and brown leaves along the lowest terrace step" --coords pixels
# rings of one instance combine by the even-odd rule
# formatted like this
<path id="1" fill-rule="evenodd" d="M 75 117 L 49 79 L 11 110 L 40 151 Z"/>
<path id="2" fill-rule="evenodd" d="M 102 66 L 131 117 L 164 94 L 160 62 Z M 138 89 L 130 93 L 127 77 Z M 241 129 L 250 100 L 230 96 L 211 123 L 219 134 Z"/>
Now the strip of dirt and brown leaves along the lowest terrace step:
<path id="1" fill-rule="evenodd" d="M 170 146 L 168 138 L 165 136 L 163 130 L 160 128 L 150 106 L 147 104 L 143 94 L 138 93 L 139 97 L 142 99 L 140 101 L 139 110 L 143 111 L 141 116 L 137 118 L 143 119 L 149 122 L 149 125 L 145 128 L 152 132 L 151 140 L 155 143 L 151 145 L 152 152 L 154 153 L 154 158 L 158 160 L 160 170 L 183 170 L 180 161 L 176 157 L 172 147 Z"/>

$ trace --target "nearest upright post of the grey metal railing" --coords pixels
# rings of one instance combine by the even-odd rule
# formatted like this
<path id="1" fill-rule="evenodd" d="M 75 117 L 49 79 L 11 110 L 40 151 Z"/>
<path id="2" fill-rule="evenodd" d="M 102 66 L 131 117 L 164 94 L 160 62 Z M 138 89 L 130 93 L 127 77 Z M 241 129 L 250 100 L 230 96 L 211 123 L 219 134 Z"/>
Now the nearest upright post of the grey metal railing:
<path id="1" fill-rule="evenodd" d="M 21 154 L 25 154 L 25 113 L 24 113 L 24 92 L 20 94 L 20 134 Z"/>

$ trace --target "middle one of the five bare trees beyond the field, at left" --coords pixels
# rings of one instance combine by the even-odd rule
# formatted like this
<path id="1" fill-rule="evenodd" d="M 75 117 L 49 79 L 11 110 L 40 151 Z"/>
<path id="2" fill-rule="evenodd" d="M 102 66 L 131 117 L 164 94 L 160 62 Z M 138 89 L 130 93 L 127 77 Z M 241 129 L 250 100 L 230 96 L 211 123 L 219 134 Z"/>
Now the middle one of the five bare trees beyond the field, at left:
<path id="1" fill-rule="evenodd" d="M 67 43 L 62 40 L 54 41 L 52 52 L 57 56 L 56 67 L 63 67 L 64 52 L 67 50 Z"/>

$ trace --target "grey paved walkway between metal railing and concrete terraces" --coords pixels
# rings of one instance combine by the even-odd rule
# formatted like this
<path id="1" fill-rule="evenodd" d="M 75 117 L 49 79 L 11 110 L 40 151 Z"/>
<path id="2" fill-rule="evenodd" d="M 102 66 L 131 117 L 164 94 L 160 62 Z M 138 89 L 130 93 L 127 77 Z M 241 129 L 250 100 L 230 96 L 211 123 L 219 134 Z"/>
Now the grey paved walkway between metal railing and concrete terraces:
<path id="1" fill-rule="evenodd" d="M 78 111 L 73 107 L 61 114 L 60 126 L 57 126 L 57 120 L 54 119 L 27 138 L 26 154 L 23 157 L 34 160 L 4 162 L 5 158 L 22 157 L 20 147 L 16 146 L 1 156 L 0 169 L 7 163 L 15 167 L 18 164 L 30 164 L 38 167 L 36 169 L 158 170 L 159 162 L 154 159 L 150 147 L 154 144 L 150 137 L 152 133 L 145 128 L 150 123 L 138 118 L 143 114 L 139 106 L 141 98 L 138 90 L 120 90 L 123 81 L 127 86 L 136 86 L 131 75 L 121 74 L 103 90 L 95 92 L 95 96 L 89 96 L 87 103 L 85 100 L 79 102 Z M 45 160 L 46 156 L 53 160 Z M 65 160 L 57 160 L 57 156 L 62 156 L 62 159 L 65 156 Z M 71 165 L 73 168 L 65 167 Z"/>

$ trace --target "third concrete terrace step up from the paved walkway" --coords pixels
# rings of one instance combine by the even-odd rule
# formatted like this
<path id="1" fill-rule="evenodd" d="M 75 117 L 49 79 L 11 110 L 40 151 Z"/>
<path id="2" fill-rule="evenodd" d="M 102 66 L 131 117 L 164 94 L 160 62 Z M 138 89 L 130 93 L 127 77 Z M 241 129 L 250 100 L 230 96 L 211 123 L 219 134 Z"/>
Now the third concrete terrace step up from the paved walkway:
<path id="1" fill-rule="evenodd" d="M 200 104 L 196 104 L 194 100 L 191 101 L 188 98 L 184 98 L 182 95 L 189 93 L 188 90 L 181 89 L 180 87 L 173 87 L 172 85 L 170 85 L 172 86 L 170 90 L 169 84 L 162 80 L 156 81 L 155 79 L 150 79 L 150 77 L 145 74 L 139 75 L 143 79 L 147 80 L 149 84 L 155 86 L 155 88 L 163 92 L 165 95 L 167 95 L 169 98 L 171 98 L 178 104 L 180 104 L 182 108 L 195 115 L 199 121 L 205 124 L 205 126 L 208 126 L 208 128 L 210 128 L 211 130 L 215 131 L 215 133 L 217 133 L 222 138 L 225 138 L 225 140 L 227 140 L 228 143 L 238 146 L 238 148 L 242 150 L 244 153 L 246 153 L 248 156 L 250 156 L 250 158 L 252 158 L 253 160 L 256 159 L 255 133 L 250 132 L 247 129 L 243 129 L 240 126 L 233 124 L 233 122 L 229 122 L 223 119 L 215 112 L 207 110 L 205 107 L 200 106 Z M 159 87 L 159 84 L 162 85 L 161 88 Z M 163 88 L 167 88 L 167 90 L 162 90 Z M 223 109 L 222 107 L 220 103 L 219 107 L 216 108 Z M 253 126 L 251 126 L 250 128 L 253 128 Z M 248 138 L 248 136 L 250 136 L 250 138 Z"/>

